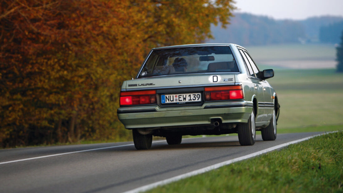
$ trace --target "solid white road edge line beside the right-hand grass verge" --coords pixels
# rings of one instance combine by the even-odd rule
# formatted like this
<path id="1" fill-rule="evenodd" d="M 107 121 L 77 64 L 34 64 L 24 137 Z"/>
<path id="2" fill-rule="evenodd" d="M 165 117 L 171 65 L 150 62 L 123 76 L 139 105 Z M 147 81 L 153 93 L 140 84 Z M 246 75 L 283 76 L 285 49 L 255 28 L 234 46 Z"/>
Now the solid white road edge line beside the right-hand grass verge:
<path id="1" fill-rule="evenodd" d="M 333 132 L 328 132 L 328 133 L 335 133 L 335 132 L 338 132 L 338 131 L 333 131 Z M 241 160 L 244 160 L 244 159 L 252 158 L 252 157 L 255 157 L 255 156 L 258 156 L 258 155 L 261 155 L 261 154 L 265 154 L 267 152 L 271 152 L 273 150 L 276 150 L 276 149 L 279 149 L 279 148 L 282 148 L 282 147 L 286 147 L 286 146 L 294 144 L 294 143 L 299 143 L 299 142 L 302 142 L 302 141 L 305 141 L 305 140 L 309 140 L 310 138 L 317 137 L 317 136 L 320 136 L 320 135 L 325 135 L 325 134 L 328 134 L 328 133 L 322 133 L 322 134 L 319 134 L 319 135 L 313 135 L 313 136 L 310 136 L 310 137 L 302 138 L 300 140 L 295 140 L 295 141 L 287 142 L 287 143 L 284 143 L 284 144 L 281 144 L 281 145 L 276 145 L 274 147 L 263 149 L 263 150 L 261 150 L 259 152 L 248 154 L 246 156 L 238 157 L 238 158 L 235 158 L 235 159 L 230 159 L 230 160 L 218 163 L 218 164 L 214 164 L 212 166 L 208 166 L 208 167 L 201 168 L 201 169 L 198 169 L 198 170 L 194 170 L 194 171 L 191 171 L 191 172 L 188 172 L 188 173 L 184 173 L 184 174 L 181 174 L 179 176 L 175 176 L 175 177 L 168 178 L 168 179 L 165 179 L 165 180 L 161 180 L 161 181 L 158 181 L 158 182 L 155 182 L 155 183 L 147 184 L 147 185 L 135 188 L 133 190 L 126 191 L 124 193 L 145 192 L 145 191 L 151 190 L 153 188 L 156 188 L 157 186 L 169 184 L 171 182 L 175 182 L 175 181 L 178 181 L 178 180 L 181 180 L 181 179 L 185 179 L 185 178 L 188 178 L 188 177 L 191 177 L 191 176 L 196 176 L 198 174 L 205 173 L 205 172 L 208 172 L 210 170 L 214 170 L 214 169 L 220 168 L 222 166 L 226 166 L 226 165 L 232 164 L 232 163 L 237 162 L 237 161 L 241 161 Z"/>

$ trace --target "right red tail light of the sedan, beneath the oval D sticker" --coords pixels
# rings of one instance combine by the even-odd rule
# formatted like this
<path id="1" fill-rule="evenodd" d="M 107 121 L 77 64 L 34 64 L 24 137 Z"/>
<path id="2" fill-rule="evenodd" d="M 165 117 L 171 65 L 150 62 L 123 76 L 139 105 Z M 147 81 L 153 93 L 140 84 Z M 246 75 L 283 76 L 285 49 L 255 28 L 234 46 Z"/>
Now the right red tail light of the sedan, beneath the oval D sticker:
<path id="1" fill-rule="evenodd" d="M 205 87 L 205 100 L 243 99 L 242 86 Z"/>

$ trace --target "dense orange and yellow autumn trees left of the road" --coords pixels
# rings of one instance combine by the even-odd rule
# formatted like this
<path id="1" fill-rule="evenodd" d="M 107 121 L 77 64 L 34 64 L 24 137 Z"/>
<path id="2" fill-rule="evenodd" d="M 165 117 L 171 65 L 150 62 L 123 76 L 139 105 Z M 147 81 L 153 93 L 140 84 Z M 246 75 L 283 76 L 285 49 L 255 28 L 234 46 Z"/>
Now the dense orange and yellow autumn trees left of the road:
<path id="1" fill-rule="evenodd" d="M 231 1 L 3 0 L 2 146 L 122 140 L 123 80 L 158 46 L 201 43 Z"/>

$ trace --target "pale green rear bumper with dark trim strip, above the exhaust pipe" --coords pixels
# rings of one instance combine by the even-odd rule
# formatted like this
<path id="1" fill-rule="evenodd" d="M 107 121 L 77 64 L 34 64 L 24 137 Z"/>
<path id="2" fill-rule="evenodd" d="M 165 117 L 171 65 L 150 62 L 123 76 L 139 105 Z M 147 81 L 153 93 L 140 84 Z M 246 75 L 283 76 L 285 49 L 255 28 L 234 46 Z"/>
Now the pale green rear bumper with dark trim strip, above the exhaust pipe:
<path id="1" fill-rule="evenodd" d="M 193 107 L 123 107 L 117 114 L 126 129 L 160 128 L 209 125 L 211 119 L 221 119 L 222 123 L 246 123 L 252 107 L 250 101 L 208 102 Z"/>

